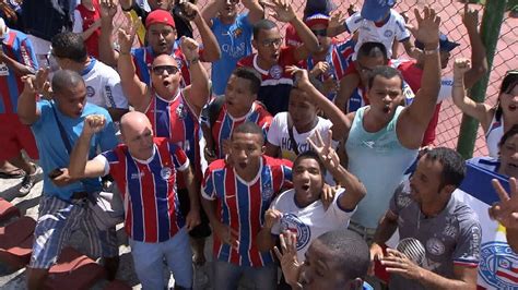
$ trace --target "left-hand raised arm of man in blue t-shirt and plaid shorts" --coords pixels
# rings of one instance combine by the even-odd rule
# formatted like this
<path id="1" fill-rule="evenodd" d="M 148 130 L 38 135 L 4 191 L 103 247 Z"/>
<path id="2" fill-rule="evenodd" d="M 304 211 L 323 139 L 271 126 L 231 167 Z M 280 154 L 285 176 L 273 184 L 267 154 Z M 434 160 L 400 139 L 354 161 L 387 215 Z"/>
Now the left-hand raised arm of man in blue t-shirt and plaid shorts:
<path id="1" fill-rule="evenodd" d="M 49 86 L 47 76 L 48 69 L 39 69 L 35 77 L 33 75 L 22 76 L 24 87 L 17 98 L 17 117 L 23 124 L 32 125 L 39 119 L 40 111 L 36 106 L 36 99 L 38 93 Z"/>

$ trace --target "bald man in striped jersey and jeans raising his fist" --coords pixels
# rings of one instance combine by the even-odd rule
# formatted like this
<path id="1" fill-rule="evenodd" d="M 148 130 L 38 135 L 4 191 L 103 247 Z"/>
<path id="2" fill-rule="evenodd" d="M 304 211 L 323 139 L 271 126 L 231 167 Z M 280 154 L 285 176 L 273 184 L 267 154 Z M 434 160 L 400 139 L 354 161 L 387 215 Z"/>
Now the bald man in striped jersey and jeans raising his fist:
<path id="1" fill-rule="evenodd" d="M 73 178 L 111 174 L 126 204 L 125 228 L 134 268 L 143 289 L 164 289 L 163 259 L 167 261 L 176 287 L 192 287 L 188 230 L 200 222 L 199 210 L 183 218 L 176 193 L 176 173 L 183 172 L 189 197 L 199 203 L 199 188 L 185 152 L 164 137 L 154 137 L 148 117 L 128 112 L 120 120 L 123 145 L 87 161 L 94 134 L 104 129 L 104 116 L 89 116 L 72 150 L 69 172 Z"/>

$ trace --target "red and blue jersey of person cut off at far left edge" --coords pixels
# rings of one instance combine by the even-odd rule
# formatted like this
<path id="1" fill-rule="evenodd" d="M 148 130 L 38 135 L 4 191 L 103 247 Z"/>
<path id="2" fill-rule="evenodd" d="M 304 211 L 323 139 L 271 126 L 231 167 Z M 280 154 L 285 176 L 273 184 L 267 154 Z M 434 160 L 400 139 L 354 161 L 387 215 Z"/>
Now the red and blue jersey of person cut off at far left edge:
<path id="1" fill-rule="evenodd" d="M 9 58 L 33 68 L 38 69 L 36 55 L 31 40 L 19 31 L 9 29 L 7 37 L 0 39 L 1 49 Z M 16 75 L 12 69 L 0 61 L 0 113 L 16 113 L 17 97 L 23 90 L 22 75 Z"/>

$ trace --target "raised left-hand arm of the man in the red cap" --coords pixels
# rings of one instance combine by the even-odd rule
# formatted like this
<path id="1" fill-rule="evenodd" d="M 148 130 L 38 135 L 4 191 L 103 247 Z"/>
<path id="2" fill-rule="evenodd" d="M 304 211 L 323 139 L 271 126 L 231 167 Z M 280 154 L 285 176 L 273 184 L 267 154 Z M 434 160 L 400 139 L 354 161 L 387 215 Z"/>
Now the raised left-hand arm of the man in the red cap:
<path id="1" fill-rule="evenodd" d="M 99 35 L 99 60 L 110 67 L 117 65 L 118 52 L 111 46 L 111 33 L 114 32 L 114 16 L 117 13 L 117 0 L 99 0 L 101 7 L 101 35 Z"/>

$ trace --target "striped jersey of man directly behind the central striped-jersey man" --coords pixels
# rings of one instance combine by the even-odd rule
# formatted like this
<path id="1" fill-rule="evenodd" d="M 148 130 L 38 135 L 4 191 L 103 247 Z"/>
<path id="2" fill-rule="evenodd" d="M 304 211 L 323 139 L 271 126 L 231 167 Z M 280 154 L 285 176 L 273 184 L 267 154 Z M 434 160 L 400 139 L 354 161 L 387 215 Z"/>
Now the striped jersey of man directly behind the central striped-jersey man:
<path id="1" fill-rule="evenodd" d="M 262 129 L 264 138 L 267 137 L 268 130 L 272 122 L 273 117 L 267 111 L 267 109 L 258 101 L 255 101 L 250 108 L 250 111 L 243 118 L 232 118 L 226 110 L 226 105 L 223 105 L 220 114 L 217 116 L 214 125 L 211 128 L 212 138 L 214 140 L 214 152 L 217 158 L 223 158 L 223 141 L 229 140 L 232 132 L 238 125 L 245 122 L 254 122 Z"/>

